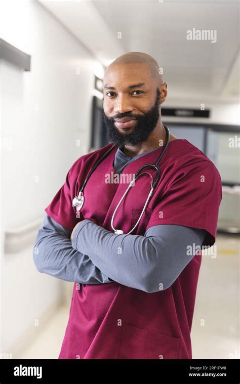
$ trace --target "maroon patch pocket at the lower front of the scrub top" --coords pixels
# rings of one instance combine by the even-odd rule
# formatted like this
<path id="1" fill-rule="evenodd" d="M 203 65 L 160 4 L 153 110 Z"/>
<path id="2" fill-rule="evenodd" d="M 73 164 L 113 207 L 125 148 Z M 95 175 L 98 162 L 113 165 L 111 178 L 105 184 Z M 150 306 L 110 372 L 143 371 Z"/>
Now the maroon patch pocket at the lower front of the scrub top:
<path id="1" fill-rule="evenodd" d="M 181 339 L 122 325 L 118 359 L 179 359 Z"/>

